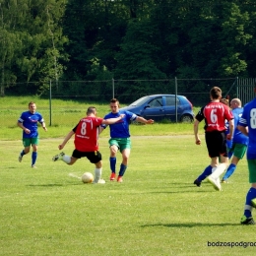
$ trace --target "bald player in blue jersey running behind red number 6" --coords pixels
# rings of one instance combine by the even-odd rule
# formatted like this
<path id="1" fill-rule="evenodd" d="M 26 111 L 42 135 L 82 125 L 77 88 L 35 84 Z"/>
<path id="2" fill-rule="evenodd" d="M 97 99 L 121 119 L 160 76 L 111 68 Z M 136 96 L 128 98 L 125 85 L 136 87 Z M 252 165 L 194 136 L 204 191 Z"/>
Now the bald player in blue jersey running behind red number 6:
<path id="1" fill-rule="evenodd" d="M 241 117 L 243 112 L 243 107 L 241 105 L 241 100 L 239 98 L 233 98 L 230 102 L 230 107 L 234 116 L 234 132 L 232 138 L 232 145 L 228 149 L 228 156 L 232 156 L 232 160 L 224 174 L 222 183 L 227 183 L 227 178 L 232 175 L 232 173 L 236 169 L 238 161 L 244 157 L 247 150 L 248 137 L 237 129 L 239 118 Z"/>

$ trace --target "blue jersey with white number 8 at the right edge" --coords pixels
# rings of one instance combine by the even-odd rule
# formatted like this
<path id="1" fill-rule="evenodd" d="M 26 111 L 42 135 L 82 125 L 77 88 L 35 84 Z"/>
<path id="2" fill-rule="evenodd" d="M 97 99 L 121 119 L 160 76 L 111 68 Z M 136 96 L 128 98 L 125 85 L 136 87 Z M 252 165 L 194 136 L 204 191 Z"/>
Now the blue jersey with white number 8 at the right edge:
<path id="1" fill-rule="evenodd" d="M 243 127 L 248 126 L 249 144 L 247 159 L 256 160 L 256 98 L 244 105 L 238 124 Z"/>

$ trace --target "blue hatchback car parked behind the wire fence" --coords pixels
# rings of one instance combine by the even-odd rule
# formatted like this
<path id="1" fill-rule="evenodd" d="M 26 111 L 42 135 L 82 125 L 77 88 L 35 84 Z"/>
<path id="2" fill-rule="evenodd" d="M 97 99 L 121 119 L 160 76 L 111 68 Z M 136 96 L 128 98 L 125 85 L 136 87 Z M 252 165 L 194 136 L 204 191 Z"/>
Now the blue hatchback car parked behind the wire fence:
<path id="1" fill-rule="evenodd" d="M 178 122 L 191 123 L 194 120 L 193 105 L 185 96 L 143 96 L 120 109 L 131 111 L 146 119 L 154 119 L 155 121 L 166 119 L 174 122 L 177 120 Z"/>

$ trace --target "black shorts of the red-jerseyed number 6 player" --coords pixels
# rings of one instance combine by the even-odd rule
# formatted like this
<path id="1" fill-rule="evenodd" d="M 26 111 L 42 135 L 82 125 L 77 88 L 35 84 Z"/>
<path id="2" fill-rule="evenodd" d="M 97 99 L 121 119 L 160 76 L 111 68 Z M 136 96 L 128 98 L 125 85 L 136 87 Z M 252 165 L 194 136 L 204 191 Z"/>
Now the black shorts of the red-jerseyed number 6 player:
<path id="1" fill-rule="evenodd" d="M 206 132 L 206 145 L 210 158 L 217 158 L 221 155 L 227 157 L 226 140 L 224 132 Z"/>

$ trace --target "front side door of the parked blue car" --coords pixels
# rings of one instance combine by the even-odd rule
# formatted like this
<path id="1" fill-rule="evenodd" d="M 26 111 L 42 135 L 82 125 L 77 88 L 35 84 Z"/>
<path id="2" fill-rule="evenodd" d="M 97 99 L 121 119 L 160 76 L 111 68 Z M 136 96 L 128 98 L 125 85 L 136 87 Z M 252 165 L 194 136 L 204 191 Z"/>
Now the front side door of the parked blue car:
<path id="1" fill-rule="evenodd" d="M 146 119 L 154 119 L 155 121 L 162 120 L 164 118 L 162 96 L 152 98 L 147 103 L 142 115 Z"/>

